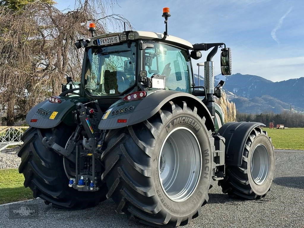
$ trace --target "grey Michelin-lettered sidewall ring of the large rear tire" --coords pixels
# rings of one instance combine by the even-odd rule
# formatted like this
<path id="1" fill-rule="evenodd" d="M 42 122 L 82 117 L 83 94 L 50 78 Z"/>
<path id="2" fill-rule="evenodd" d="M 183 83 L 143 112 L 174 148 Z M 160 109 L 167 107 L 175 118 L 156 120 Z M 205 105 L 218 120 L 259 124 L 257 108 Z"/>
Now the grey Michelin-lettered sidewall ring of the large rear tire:
<path id="1" fill-rule="evenodd" d="M 177 127 L 185 127 L 191 130 L 197 137 L 202 152 L 202 168 L 199 183 L 194 192 L 192 192 L 192 195 L 183 202 L 174 202 L 168 198 L 168 196 L 164 193 L 158 175 L 158 158 L 160 156 L 161 146 L 166 136 Z M 155 195 L 157 200 L 167 212 L 173 216 L 189 216 L 195 213 L 197 209 L 202 206 L 202 204 L 205 202 L 205 196 L 208 193 L 210 185 L 212 172 L 212 150 L 206 127 L 201 123 L 201 118 L 199 118 L 198 115 L 194 116 L 189 113 L 182 113 L 163 123 L 163 126 L 155 141 L 151 167 Z"/>

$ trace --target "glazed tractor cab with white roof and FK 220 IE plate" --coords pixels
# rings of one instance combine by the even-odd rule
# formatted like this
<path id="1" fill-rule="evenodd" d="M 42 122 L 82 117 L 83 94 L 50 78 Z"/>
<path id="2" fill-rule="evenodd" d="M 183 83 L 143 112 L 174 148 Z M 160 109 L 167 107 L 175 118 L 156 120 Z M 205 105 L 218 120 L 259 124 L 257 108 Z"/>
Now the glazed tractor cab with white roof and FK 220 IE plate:
<path id="1" fill-rule="evenodd" d="M 161 33 L 125 31 L 78 40 L 76 46 L 85 47 L 81 78 L 84 96 L 113 98 L 145 89 L 192 94 L 189 50 L 193 47 L 186 40 L 174 36 L 164 39 Z"/>

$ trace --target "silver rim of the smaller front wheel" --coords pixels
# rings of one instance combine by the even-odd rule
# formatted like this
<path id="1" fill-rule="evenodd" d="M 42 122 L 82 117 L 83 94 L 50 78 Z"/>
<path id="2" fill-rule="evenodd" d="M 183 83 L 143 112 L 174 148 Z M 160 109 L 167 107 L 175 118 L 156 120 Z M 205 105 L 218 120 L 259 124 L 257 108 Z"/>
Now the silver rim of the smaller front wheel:
<path id="1" fill-rule="evenodd" d="M 250 171 L 251 177 L 257 185 L 265 182 L 269 172 L 269 154 L 266 147 L 262 144 L 257 145 L 251 156 Z"/>

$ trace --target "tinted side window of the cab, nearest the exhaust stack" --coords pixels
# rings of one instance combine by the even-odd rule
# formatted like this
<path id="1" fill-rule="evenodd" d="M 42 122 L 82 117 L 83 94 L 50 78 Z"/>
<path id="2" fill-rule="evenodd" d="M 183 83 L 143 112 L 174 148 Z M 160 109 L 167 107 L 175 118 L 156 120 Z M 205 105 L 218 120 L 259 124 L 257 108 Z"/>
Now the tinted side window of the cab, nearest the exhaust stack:
<path id="1" fill-rule="evenodd" d="M 152 43 L 153 48 L 144 51 L 144 66 L 147 76 L 154 74 L 166 77 L 166 89 L 192 93 L 190 75 L 191 65 L 188 50 L 179 49 L 164 43 Z"/>

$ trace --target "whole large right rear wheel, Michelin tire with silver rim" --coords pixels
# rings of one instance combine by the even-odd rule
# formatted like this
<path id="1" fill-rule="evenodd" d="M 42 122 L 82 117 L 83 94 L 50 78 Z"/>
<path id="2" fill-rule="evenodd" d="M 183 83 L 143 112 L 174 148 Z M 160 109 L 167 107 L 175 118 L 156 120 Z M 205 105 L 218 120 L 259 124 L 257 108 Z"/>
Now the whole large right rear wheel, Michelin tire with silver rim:
<path id="1" fill-rule="evenodd" d="M 185 102 L 168 102 L 150 119 L 110 131 L 109 146 L 102 154 L 102 178 L 109 188 L 107 197 L 117 205 L 116 212 L 158 227 L 186 225 L 197 217 L 213 184 L 210 137 L 205 117 Z M 174 167 L 177 171 L 170 172 Z M 172 181 L 160 171 L 172 175 Z"/>

